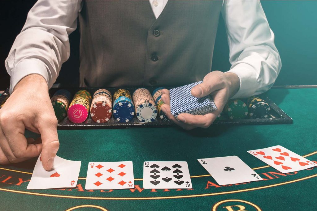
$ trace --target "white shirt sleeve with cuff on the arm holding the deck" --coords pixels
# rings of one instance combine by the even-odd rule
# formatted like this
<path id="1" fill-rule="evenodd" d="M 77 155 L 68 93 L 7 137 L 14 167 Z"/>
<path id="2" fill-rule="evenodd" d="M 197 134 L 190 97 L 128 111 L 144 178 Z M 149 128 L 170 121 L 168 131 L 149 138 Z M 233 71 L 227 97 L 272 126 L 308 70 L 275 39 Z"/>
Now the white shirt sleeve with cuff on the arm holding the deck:
<path id="1" fill-rule="evenodd" d="M 233 98 L 267 91 L 281 70 L 281 58 L 260 1 L 225 0 L 221 12 L 230 50 L 229 72 L 240 78 Z"/>

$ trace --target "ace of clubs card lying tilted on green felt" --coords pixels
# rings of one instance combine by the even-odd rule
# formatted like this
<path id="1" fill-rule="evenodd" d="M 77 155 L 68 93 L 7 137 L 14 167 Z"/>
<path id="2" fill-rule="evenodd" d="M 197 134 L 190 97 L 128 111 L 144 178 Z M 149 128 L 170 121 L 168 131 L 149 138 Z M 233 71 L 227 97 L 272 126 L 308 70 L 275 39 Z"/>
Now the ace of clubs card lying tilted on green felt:
<path id="1" fill-rule="evenodd" d="M 219 185 L 229 185 L 263 180 L 237 156 L 202 158 L 198 162 Z"/>

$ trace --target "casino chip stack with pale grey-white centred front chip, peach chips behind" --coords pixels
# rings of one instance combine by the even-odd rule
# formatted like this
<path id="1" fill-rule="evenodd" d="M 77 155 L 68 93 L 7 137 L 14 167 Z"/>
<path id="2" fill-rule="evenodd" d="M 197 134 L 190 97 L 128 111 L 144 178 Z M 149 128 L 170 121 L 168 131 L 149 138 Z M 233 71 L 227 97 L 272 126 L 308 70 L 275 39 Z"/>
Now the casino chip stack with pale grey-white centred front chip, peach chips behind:
<path id="1" fill-rule="evenodd" d="M 155 121 L 157 108 L 149 90 L 139 88 L 133 92 L 135 113 L 141 122 Z"/>

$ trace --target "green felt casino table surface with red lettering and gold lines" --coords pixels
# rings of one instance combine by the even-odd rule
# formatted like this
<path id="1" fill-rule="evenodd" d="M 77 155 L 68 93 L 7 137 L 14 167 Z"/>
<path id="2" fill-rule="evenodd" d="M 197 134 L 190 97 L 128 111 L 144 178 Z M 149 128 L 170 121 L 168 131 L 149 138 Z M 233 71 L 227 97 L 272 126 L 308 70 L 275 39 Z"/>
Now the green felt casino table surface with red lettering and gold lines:
<path id="1" fill-rule="evenodd" d="M 282 174 L 247 150 L 281 145 L 316 161 L 317 89 L 271 89 L 265 95 L 294 123 L 191 131 L 59 130 L 58 155 L 82 161 L 77 187 L 27 190 L 36 159 L 0 166 L 0 210 L 316 210 L 317 168 Z M 230 155 L 240 157 L 263 181 L 219 186 L 197 162 Z M 133 161 L 134 189 L 84 189 L 88 162 L 124 160 Z M 188 162 L 192 189 L 143 189 L 144 161 L 176 160 Z"/>

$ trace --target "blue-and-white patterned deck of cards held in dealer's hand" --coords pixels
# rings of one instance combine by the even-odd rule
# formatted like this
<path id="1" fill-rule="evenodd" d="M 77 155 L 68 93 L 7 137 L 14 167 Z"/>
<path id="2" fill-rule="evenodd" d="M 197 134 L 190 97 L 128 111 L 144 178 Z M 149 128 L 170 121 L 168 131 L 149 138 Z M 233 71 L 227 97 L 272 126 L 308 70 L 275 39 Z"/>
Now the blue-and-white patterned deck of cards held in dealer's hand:
<path id="1" fill-rule="evenodd" d="M 170 90 L 171 114 L 177 117 L 181 113 L 204 115 L 217 109 L 213 100 L 208 96 L 197 98 L 192 96 L 191 89 L 203 81 L 176 87 Z"/>

